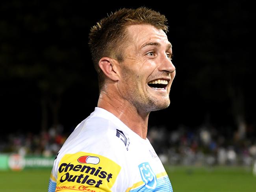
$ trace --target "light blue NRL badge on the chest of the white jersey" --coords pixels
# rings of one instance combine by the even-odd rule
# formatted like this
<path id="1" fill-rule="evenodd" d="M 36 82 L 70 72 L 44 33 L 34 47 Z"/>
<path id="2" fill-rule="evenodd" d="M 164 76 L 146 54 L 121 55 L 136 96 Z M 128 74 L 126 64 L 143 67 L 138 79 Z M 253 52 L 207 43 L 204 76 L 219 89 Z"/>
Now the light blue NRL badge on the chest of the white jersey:
<path id="1" fill-rule="evenodd" d="M 143 162 L 139 165 L 139 171 L 141 173 L 141 178 L 145 183 L 145 186 L 149 189 L 156 188 L 156 175 L 152 171 L 148 162 Z"/>

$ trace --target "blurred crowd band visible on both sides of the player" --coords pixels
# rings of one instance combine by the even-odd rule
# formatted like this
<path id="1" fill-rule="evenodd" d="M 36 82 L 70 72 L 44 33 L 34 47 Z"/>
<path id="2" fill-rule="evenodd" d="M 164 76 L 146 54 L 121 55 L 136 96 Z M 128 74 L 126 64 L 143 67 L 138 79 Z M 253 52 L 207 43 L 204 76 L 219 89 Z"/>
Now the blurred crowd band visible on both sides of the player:
<path id="1" fill-rule="evenodd" d="M 191 129 L 180 125 L 169 131 L 158 126 L 149 127 L 148 139 L 164 164 L 251 166 L 256 161 L 256 137 L 250 127 L 248 130 L 237 137 L 230 127 L 203 125 Z M 40 134 L 9 134 L 0 140 L 0 153 L 55 156 L 69 134 L 63 133 L 61 125 Z"/>

